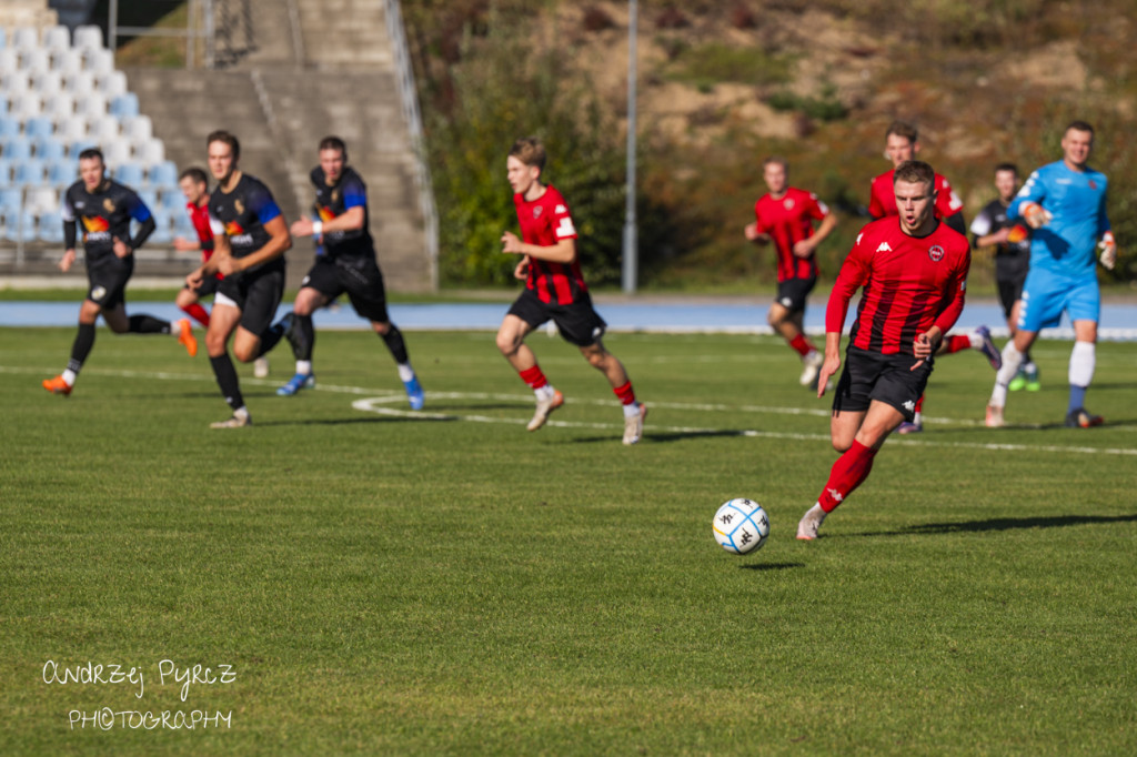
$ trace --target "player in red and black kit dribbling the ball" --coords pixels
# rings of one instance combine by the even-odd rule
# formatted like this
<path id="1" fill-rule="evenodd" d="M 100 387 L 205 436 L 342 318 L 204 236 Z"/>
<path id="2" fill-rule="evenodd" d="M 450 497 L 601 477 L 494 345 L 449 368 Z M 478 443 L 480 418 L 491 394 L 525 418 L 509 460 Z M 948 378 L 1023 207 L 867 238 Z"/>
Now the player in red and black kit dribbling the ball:
<path id="1" fill-rule="evenodd" d="M 825 516 L 869 476 L 888 435 L 912 418 L 936 349 L 963 311 L 971 251 L 965 236 L 936 217 L 935 172 L 910 160 L 896 168 L 894 183 L 899 217 L 861 230 L 829 296 L 819 397 L 841 366 L 845 315 L 863 288 L 830 419 L 841 456 L 798 523 L 798 539 L 818 538 Z"/>

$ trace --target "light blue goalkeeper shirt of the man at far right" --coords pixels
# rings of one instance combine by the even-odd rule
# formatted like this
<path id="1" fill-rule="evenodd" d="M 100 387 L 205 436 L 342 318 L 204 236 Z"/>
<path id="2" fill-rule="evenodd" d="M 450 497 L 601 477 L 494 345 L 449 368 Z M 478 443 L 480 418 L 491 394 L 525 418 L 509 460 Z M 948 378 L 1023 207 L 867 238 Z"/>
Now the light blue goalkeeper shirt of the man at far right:
<path id="1" fill-rule="evenodd" d="M 1030 240 L 1030 269 L 1069 277 L 1096 276 L 1097 241 L 1110 230 L 1105 214 L 1105 174 L 1086 167 L 1072 170 L 1057 160 L 1038 168 L 1007 208 L 1022 217 L 1022 206 L 1037 202 L 1053 216 Z"/>

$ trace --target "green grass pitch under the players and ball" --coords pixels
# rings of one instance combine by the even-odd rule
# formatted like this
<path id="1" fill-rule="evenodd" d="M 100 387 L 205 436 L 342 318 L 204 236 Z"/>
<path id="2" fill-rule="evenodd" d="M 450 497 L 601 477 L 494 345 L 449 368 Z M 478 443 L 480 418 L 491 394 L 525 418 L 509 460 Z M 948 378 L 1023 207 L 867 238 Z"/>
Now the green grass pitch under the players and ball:
<path id="1" fill-rule="evenodd" d="M 490 334 L 407 334 L 416 417 L 379 340 L 321 332 L 316 390 L 275 396 L 287 349 L 241 367 L 239 431 L 207 427 L 229 410 L 172 339 L 100 327 L 48 396 L 73 336 L 0 330 L 5 754 L 1137 751 L 1132 344 L 1098 347 L 1089 431 L 1059 427 L 1069 343 L 997 431 L 986 361 L 941 358 L 928 431 L 804 543 L 828 401 L 772 338 L 611 335 L 652 405 L 624 448 L 543 334 L 567 404 L 536 434 Z M 737 496 L 772 521 L 742 558 L 711 533 Z M 182 701 L 164 659 L 236 680 Z M 143 697 L 48 660 L 136 666 Z M 70 729 L 100 707 L 232 727 Z"/>

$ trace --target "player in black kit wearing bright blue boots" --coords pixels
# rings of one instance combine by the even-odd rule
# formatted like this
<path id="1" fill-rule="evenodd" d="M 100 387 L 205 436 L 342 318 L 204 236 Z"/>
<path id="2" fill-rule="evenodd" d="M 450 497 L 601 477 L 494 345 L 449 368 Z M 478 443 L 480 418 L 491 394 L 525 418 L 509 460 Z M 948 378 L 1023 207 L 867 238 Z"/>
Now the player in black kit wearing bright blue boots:
<path id="1" fill-rule="evenodd" d="M 308 271 L 292 303 L 285 332 L 296 355 L 296 375 L 276 390 L 291 397 L 304 388 L 316 385 L 312 372 L 312 350 L 316 333 L 312 314 L 345 292 L 355 311 L 371 322 L 371 327 L 387 344 L 395 358 L 399 378 L 407 390 L 410 408 L 423 407 L 423 389 L 418 383 L 402 332 L 387 315 L 387 294 L 383 274 L 375 259 L 375 243 L 371 236 L 367 214 L 367 186 L 348 165 L 348 148 L 338 136 L 325 136 L 319 142 L 319 165 L 312 169 L 316 188 L 315 211 L 318 221 L 301 217 L 292 224 L 293 236 L 314 236 L 324 253 Z"/>

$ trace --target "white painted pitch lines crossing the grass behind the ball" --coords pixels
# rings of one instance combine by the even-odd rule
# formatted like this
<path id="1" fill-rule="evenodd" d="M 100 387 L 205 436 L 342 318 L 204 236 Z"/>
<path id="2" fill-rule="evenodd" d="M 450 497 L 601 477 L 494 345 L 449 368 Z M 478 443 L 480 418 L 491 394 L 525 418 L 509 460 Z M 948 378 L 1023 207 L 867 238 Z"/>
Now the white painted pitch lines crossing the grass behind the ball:
<path id="1" fill-rule="evenodd" d="M 0 374 L 36 374 L 48 376 L 51 375 L 51 368 L 25 368 L 25 367 L 11 367 L 11 366 L 0 366 Z M 122 378 L 147 378 L 157 381 L 192 381 L 192 382 L 207 382 L 213 384 L 213 376 L 200 375 L 200 374 L 186 374 L 186 373 L 167 373 L 167 372 L 153 372 L 153 371 L 106 371 L 99 368 L 88 368 L 84 371 L 88 375 L 98 374 L 101 376 L 116 376 Z M 241 377 L 241 383 L 246 385 L 255 386 L 275 386 L 280 384 L 279 378 L 251 378 Z M 365 399 L 357 399 L 351 402 L 351 407 L 356 410 L 364 413 L 375 413 L 377 415 L 387 415 L 395 417 L 406 417 L 406 418 L 421 418 L 424 421 L 466 421 L 470 423 L 503 423 L 511 425 L 523 425 L 529 423 L 529 418 L 525 417 L 523 413 L 518 417 L 495 417 L 485 415 L 473 415 L 473 414 L 449 414 L 449 413 L 430 413 L 423 410 L 410 410 L 402 407 L 387 407 L 392 404 L 406 402 L 406 396 L 401 391 L 392 391 L 382 393 L 379 397 L 374 397 L 377 392 L 382 390 L 376 390 L 374 388 L 365 386 L 338 386 L 334 384 L 317 384 L 315 390 L 310 391 L 322 391 L 322 392 L 335 392 L 341 394 L 367 394 L 370 397 Z M 532 394 L 509 394 L 509 393 L 497 393 L 497 392 L 426 392 L 428 401 L 434 400 L 492 400 L 499 402 L 516 402 L 528 409 L 532 406 L 533 397 Z M 591 405 L 591 406 L 603 406 L 612 407 L 611 399 L 575 399 L 568 398 L 565 400 L 566 404 L 571 405 Z M 649 408 L 653 409 L 671 409 L 681 411 L 699 411 L 699 413 L 731 413 L 740 414 L 747 413 L 753 415 L 807 415 L 814 417 L 828 417 L 829 410 L 822 408 L 794 408 L 794 407 L 771 407 L 763 405 L 725 405 L 725 404 L 705 404 L 705 402 L 647 402 Z M 958 418 L 929 418 L 924 417 L 926 423 L 938 423 L 945 425 L 979 425 L 980 422 L 972 422 L 968 419 Z M 603 430 L 603 431 L 620 431 L 623 429 L 622 423 L 581 423 L 581 422 L 568 422 L 568 421 L 556 421 L 549 419 L 547 423 L 549 426 L 557 426 L 562 429 L 590 429 L 590 430 Z M 780 432 L 780 431 L 757 431 L 757 430 L 746 430 L 746 429 L 723 429 L 723 427 L 711 427 L 711 426 L 673 426 L 673 425 L 658 425 L 648 422 L 648 433 L 647 436 L 650 438 L 650 432 L 665 432 L 672 434 L 715 434 L 715 435 L 735 435 L 735 436 L 748 436 L 756 439 L 783 439 L 792 441 L 823 441 L 829 442 L 828 433 L 791 433 L 791 432 Z M 1037 429 L 1038 426 L 1016 426 L 1019 429 Z M 1088 432 L 1094 433 L 1094 432 Z M 1137 457 L 1137 449 L 1131 448 L 1098 448 L 1098 447 L 1068 447 L 1061 444 L 1015 444 L 1015 443 L 996 443 L 996 442 L 951 442 L 951 441 L 937 441 L 933 439 L 911 439 L 894 436 L 893 441 L 888 442 L 889 446 L 904 444 L 910 447 L 951 447 L 955 449 L 978 449 L 978 450 L 991 450 L 991 451 L 1013 451 L 1013 452 L 1068 452 L 1077 455 L 1118 455 L 1118 456 L 1134 456 Z"/>

